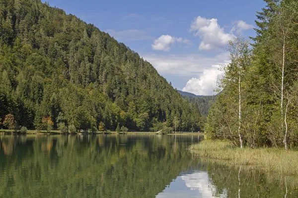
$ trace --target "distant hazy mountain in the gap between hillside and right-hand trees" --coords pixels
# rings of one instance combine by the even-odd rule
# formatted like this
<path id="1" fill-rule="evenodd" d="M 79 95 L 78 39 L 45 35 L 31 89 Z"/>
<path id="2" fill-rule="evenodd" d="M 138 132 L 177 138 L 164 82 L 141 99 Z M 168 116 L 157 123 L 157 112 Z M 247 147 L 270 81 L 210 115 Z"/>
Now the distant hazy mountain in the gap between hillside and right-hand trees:
<path id="1" fill-rule="evenodd" d="M 212 103 L 215 101 L 217 95 L 214 96 L 198 96 L 192 93 L 183 92 L 178 90 L 182 98 L 187 99 L 189 102 L 198 106 L 202 115 L 207 116 Z"/>

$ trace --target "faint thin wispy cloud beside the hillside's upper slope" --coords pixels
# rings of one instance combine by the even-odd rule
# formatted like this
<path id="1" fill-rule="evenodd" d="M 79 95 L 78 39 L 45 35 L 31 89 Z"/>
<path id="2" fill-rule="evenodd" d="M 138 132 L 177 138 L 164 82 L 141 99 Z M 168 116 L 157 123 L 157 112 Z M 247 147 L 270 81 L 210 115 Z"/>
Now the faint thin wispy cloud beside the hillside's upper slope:
<path id="1" fill-rule="evenodd" d="M 153 37 L 147 35 L 146 30 L 123 30 L 115 31 L 108 29 L 106 30 L 112 37 L 119 41 L 141 41 L 141 40 L 152 40 Z"/>

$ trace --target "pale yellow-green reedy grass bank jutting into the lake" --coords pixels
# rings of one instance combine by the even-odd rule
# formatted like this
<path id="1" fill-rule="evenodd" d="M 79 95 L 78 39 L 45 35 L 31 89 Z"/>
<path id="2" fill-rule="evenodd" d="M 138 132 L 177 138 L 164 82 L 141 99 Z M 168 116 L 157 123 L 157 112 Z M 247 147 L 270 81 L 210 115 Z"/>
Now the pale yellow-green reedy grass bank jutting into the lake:
<path id="1" fill-rule="evenodd" d="M 204 140 L 190 147 L 192 154 L 218 159 L 222 164 L 246 165 L 266 172 L 298 175 L 298 151 L 282 148 L 238 148 L 227 141 Z"/>

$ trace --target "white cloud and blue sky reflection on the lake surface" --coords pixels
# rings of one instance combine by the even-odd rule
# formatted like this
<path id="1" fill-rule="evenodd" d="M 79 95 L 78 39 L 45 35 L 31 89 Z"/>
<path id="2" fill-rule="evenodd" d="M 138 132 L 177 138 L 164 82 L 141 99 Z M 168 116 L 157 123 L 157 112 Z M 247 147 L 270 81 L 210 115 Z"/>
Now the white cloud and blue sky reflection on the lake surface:
<path id="1" fill-rule="evenodd" d="M 216 186 L 210 182 L 207 172 L 195 171 L 182 173 L 156 198 L 226 198 L 226 194 L 214 195 L 215 189 Z"/>

